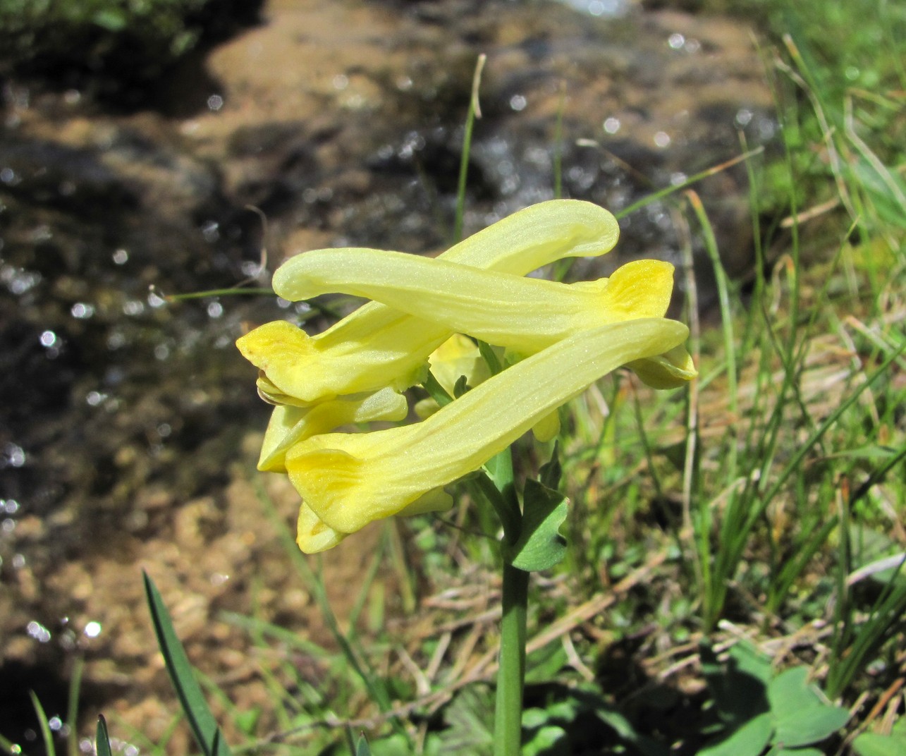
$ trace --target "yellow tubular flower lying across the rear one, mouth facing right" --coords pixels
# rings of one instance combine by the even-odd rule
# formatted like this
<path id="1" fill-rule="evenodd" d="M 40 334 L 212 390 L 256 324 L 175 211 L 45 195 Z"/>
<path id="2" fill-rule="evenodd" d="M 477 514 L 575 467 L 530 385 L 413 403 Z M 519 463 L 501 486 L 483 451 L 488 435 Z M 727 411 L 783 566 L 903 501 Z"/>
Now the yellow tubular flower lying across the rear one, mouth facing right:
<path id="1" fill-rule="evenodd" d="M 517 354 L 535 354 L 600 325 L 663 317 L 673 290 L 673 266 L 637 260 L 610 278 L 560 284 L 442 258 L 319 249 L 281 267 L 274 288 L 293 300 L 334 291 L 366 296 Z M 695 374 L 681 349 L 654 362 L 633 363 L 635 367 L 642 380 L 657 387 L 679 385 Z"/>

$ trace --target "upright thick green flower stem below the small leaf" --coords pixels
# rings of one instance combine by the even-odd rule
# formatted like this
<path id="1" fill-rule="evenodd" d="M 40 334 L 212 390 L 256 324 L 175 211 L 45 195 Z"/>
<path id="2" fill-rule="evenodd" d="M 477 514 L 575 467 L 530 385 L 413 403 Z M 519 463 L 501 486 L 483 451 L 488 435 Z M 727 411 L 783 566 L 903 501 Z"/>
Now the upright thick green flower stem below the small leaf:
<path id="1" fill-rule="evenodd" d="M 519 756 L 522 748 L 522 689 L 525 683 L 525 610 L 528 573 L 504 564 L 500 667 L 494 715 L 494 756 Z"/>

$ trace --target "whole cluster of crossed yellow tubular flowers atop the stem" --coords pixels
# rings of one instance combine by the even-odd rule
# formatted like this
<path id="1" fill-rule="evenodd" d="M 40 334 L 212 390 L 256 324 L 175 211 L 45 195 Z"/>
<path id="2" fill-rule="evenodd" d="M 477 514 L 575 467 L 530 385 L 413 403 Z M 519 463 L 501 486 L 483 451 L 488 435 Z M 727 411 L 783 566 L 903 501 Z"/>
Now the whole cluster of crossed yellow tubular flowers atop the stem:
<path id="1" fill-rule="evenodd" d="M 526 277 L 608 252 L 618 233 L 602 208 L 551 200 L 436 258 L 318 249 L 278 268 L 275 292 L 290 301 L 373 300 L 322 334 L 278 321 L 236 343 L 275 404 L 258 468 L 287 473 L 301 494 L 299 547 L 322 551 L 372 520 L 448 508 L 445 486 L 525 431 L 553 437 L 557 407 L 620 365 L 655 388 L 689 381 L 688 329 L 664 317 L 670 264 L 640 260 L 570 285 Z M 471 339 L 502 350 L 506 370 L 491 376 Z M 404 420 L 402 392 L 424 383 L 429 366 L 451 395 L 459 375 L 470 390 L 442 407 L 421 403 L 421 422 L 335 432 Z"/>

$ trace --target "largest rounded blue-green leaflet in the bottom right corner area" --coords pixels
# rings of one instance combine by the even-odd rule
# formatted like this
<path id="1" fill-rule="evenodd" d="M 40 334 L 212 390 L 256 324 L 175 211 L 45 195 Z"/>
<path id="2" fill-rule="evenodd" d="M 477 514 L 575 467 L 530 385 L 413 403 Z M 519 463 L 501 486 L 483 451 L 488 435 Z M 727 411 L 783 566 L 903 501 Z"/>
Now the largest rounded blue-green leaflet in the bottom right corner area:
<path id="1" fill-rule="evenodd" d="M 776 722 L 773 742 L 786 748 L 821 742 L 849 722 L 849 712 L 826 703 L 808 682 L 805 666 L 778 674 L 767 686 L 767 699 Z"/>

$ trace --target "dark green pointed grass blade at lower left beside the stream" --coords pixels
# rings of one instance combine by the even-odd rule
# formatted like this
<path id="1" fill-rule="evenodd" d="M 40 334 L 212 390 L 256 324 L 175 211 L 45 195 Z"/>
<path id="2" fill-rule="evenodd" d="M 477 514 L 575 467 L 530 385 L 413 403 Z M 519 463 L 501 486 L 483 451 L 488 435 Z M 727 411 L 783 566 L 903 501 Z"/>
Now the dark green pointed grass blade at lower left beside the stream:
<path id="1" fill-rule="evenodd" d="M 186 651 L 179 643 L 179 638 L 173 629 L 173 621 L 170 619 L 167 607 L 164 606 L 158 588 L 147 572 L 142 570 L 141 574 L 145 580 L 145 595 L 148 597 L 148 607 L 154 623 L 154 634 L 158 638 L 160 653 L 167 664 L 170 682 L 173 683 L 179 696 L 179 703 L 182 704 L 183 712 L 186 713 L 192 734 L 195 735 L 195 740 L 198 742 L 198 748 L 205 756 L 229 756 L 229 746 L 220 738 L 217 721 L 207 707 L 205 696 L 201 693 L 195 675 L 192 674 L 192 665 L 188 663 Z M 214 750 L 215 748 L 216 750 Z"/>

